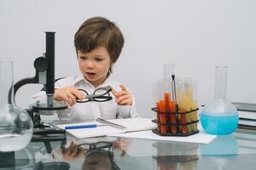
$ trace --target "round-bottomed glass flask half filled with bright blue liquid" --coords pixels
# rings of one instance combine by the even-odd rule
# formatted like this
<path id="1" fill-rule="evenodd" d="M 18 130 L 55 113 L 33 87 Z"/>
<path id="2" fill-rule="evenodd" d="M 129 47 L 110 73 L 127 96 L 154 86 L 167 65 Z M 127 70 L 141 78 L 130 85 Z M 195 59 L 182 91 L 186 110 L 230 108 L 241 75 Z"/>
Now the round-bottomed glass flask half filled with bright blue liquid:
<path id="1" fill-rule="evenodd" d="M 226 100 L 228 66 L 215 67 L 215 99 L 201 111 L 201 125 L 206 133 L 230 134 L 238 125 L 236 107 Z"/>

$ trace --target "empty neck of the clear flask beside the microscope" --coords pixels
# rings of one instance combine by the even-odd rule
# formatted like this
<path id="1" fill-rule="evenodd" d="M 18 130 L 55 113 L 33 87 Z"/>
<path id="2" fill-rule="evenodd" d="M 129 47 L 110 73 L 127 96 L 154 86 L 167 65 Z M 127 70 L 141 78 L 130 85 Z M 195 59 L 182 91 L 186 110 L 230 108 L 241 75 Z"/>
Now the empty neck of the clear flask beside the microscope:
<path id="1" fill-rule="evenodd" d="M 0 105 L 11 105 L 14 99 L 13 62 L 0 62 Z"/>

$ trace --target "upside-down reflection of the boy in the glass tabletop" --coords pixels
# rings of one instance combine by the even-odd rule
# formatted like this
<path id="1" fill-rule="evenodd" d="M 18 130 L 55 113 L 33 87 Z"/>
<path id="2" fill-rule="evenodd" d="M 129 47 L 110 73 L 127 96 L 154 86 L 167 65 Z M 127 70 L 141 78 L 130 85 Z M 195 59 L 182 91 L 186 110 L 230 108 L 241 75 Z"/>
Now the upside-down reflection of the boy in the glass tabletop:
<path id="1" fill-rule="evenodd" d="M 116 170 L 120 168 L 114 161 L 113 151 L 120 150 L 120 157 L 124 157 L 130 143 L 130 139 L 115 139 L 95 143 L 71 141 L 69 144 L 61 145 L 61 157 L 67 161 L 82 159 L 81 169 L 83 170 Z M 54 156 L 56 158 L 58 152 L 55 150 Z"/>

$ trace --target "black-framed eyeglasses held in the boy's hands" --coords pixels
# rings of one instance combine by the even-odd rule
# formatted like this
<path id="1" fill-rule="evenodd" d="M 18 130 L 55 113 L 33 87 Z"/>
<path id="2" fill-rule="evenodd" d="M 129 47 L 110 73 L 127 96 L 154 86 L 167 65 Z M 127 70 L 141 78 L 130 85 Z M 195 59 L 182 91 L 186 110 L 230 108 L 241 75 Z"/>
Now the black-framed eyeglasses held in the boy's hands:
<path id="1" fill-rule="evenodd" d="M 82 93 L 86 96 L 85 99 L 77 99 L 78 103 L 85 103 L 89 101 L 96 101 L 96 102 L 103 102 L 111 100 L 112 97 L 110 96 L 109 92 L 112 90 L 110 86 L 97 88 L 93 94 L 88 94 L 84 89 L 79 89 Z"/>

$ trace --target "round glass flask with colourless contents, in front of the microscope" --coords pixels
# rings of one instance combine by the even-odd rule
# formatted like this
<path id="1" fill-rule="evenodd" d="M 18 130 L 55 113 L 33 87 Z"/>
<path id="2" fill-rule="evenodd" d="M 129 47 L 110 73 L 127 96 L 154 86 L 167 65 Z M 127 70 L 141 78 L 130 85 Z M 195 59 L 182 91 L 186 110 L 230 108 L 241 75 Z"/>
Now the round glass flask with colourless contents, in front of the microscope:
<path id="1" fill-rule="evenodd" d="M 21 150 L 32 139 L 32 119 L 14 104 L 13 62 L 0 62 L 0 151 Z"/>

